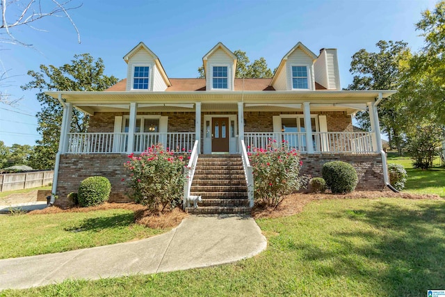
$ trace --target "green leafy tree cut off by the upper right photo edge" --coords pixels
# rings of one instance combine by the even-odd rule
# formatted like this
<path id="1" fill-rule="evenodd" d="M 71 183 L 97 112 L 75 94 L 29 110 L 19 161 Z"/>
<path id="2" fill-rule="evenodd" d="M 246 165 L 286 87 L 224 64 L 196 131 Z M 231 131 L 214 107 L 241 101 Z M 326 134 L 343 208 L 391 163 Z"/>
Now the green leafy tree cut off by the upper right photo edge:
<path id="1" fill-rule="evenodd" d="M 406 65 L 400 93 L 417 122 L 445 126 L 445 1 L 425 10 L 416 30 L 425 37 L 425 47 Z"/>

